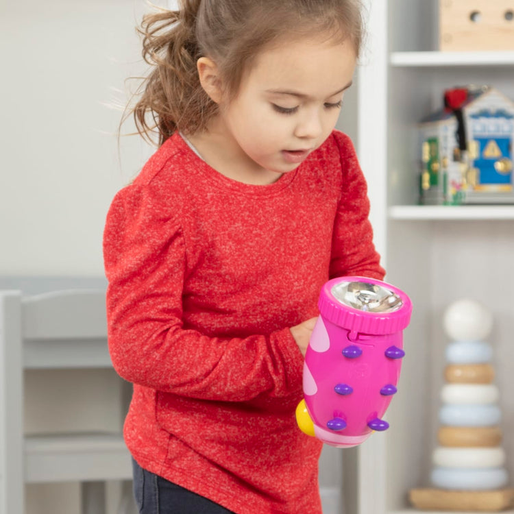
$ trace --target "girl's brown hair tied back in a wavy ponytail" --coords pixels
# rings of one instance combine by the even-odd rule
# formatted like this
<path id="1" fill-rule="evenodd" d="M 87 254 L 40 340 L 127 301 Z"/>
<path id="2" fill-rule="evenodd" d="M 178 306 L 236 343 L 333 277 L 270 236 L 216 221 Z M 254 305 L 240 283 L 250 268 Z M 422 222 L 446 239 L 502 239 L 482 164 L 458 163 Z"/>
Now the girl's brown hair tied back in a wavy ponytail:
<path id="1" fill-rule="evenodd" d="M 326 33 L 350 40 L 358 56 L 363 38 L 360 0 L 180 0 L 178 11 L 143 17 L 143 58 L 153 69 L 140 84 L 134 115 L 143 137 L 164 143 L 173 132 L 194 134 L 217 112 L 201 87 L 196 62 L 214 60 L 233 98 L 243 73 L 264 47 L 284 36 Z"/>

